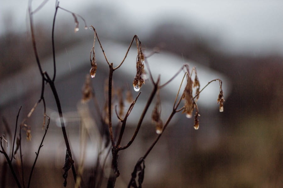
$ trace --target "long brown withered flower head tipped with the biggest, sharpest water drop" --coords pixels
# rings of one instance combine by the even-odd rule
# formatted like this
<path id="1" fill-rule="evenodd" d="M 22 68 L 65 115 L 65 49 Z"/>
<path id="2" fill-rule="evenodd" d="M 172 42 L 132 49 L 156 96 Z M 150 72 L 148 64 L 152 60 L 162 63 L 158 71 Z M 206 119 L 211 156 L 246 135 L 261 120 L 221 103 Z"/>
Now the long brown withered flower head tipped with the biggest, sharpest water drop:
<path id="1" fill-rule="evenodd" d="M 133 86 L 135 91 L 139 91 L 140 88 L 142 87 L 142 84 L 144 84 L 144 55 L 142 53 L 142 50 L 140 50 L 140 53 L 137 55 L 136 59 L 136 76 L 133 81 Z"/>

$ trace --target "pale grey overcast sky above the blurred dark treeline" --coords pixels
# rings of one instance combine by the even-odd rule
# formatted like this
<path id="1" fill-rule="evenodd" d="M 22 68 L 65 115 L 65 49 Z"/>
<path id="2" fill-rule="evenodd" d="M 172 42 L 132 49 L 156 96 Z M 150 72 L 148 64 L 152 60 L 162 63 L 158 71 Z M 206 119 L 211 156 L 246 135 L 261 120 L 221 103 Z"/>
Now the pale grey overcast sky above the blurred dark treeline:
<path id="1" fill-rule="evenodd" d="M 42 1 L 35 0 L 36 4 Z M 275 51 L 283 54 L 283 1 L 134 1 L 134 0 L 61 0 L 60 5 L 76 13 L 84 14 L 90 7 L 114 8 L 121 18 L 127 17 L 132 27 L 150 30 L 164 19 L 180 19 L 190 23 L 200 36 L 216 35 L 222 49 L 229 51 L 248 50 L 253 53 Z M 53 16 L 55 0 L 50 0 L 38 19 Z M 25 0 L 0 0 L 0 24 L 12 16 L 14 24 L 0 27 L 18 30 L 26 26 Z M 5 16 L 6 15 L 6 16 Z M 138 20 L 138 22 L 137 22 Z M 142 23 L 142 25 L 141 25 Z M 92 23 L 93 24 L 93 23 Z"/>

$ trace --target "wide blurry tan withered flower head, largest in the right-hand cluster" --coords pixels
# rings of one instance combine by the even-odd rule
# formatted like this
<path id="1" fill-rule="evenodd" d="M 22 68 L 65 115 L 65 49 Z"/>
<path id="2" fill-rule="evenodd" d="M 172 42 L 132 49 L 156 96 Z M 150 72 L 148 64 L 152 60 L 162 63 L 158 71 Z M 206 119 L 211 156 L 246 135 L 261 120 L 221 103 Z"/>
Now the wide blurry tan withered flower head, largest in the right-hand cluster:
<path id="1" fill-rule="evenodd" d="M 188 82 L 184 90 L 184 100 L 185 100 L 185 108 L 183 110 L 183 113 L 186 113 L 187 118 L 191 118 L 191 114 L 194 110 L 194 102 L 192 98 L 192 86 L 193 86 L 193 81 L 191 78 L 188 76 Z"/>

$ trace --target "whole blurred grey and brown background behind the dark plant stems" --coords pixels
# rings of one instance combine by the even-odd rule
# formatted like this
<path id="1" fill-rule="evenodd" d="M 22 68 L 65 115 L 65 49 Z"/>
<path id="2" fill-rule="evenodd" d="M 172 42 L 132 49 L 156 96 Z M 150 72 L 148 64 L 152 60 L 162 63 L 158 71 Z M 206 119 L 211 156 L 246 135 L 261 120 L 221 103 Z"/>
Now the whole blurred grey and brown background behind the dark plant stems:
<path id="1" fill-rule="evenodd" d="M 32 5 L 35 8 L 41 2 L 33 1 Z M 31 46 L 27 5 L 27 1 L 0 1 L 0 116 L 12 132 L 19 107 L 23 106 L 19 116 L 21 122 L 40 97 L 41 90 L 41 77 Z M 193 120 L 177 114 L 149 154 L 145 161 L 145 187 L 283 186 L 282 1 L 62 0 L 60 6 L 80 14 L 87 26 L 96 28 L 114 64 L 122 60 L 130 40 L 137 34 L 147 53 L 155 47 L 160 49 L 159 54 L 148 60 L 151 69 L 162 71 L 164 81 L 183 63 L 195 66 L 198 74 L 203 74 L 199 76 L 204 83 L 201 88 L 212 79 L 223 80 L 224 112 L 219 112 L 217 105 L 219 85 L 212 83 L 207 93 L 200 96 L 200 128 L 194 130 Z M 50 0 L 34 15 L 39 55 L 43 67 L 51 75 L 54 11 L 55 1 Z M 89 53 L 93 43 L 93 31 L 85 30 L 83 21 L 78 20 L 80 30 L 75 33 L 74 18 L 59 9 L 55 25 L 56 59 L 57 66 L 61 67 L 55 84 L 75 151 L 79 148 L 78 103 L 90 69 Z M 117 72 L 115 79 L 114 84 L 125 90 L 128 86 L 132 90 L 135 53 L 133 47 L 123 65 L 125 68 Z M 103 106 L 108 66 L 98 45 L 96 54 L 100 54 L 98 67 L 101 68 L 92 85 Z M 151 88 L 147 81 L 137 106 L 146 101 Z M 163 121 L 170 113 L 177 89 L 166 87 L 164 90 L 161 95 Z M 132 93 L 135 97 L 136 92 L 132 90 Z M 47 115 L 51 115 L 56 112 L 56 105 L 49 86 L 45 97 Z M 89 105 L 95 120 L 95 110 Z M 34 154 L 39 144 L 37 140 L 42 138 L 42 108 L 39 105 L 28 122 L 33 137 L 31 142 L 23 140 L 24 148 L 28 148 L 24 154 L 25 169 L 30 169 L 33 162 L 27 155 Z M 135 130 L 134 122 L 140 109 L 137 107 L 129 120 L 131 123 L 123 138 L 125 143 Z M 119 153 L 118 187 L 125 187 L 136 161 L 156 137 L 150 121 L 151 109 L 133 145 Z M 64 152 L 60 149 L 64 150 L 64 143 L 54 114 L 36 164 L 38 173 L 35 172 L 33 187 L 44 184 L 54 187 L 63 182 Z M 1 120 L 0 125 L 1 134 L 7 134 L 4 121 Z M 85 181 L 92 174 L 97 155 L 93 147 L 88 148 L 88 152 Z M 75 157 L 78 160 L 79 154 Z M 2 155 L 0 160 L 3 164 Z M 13 182 L 8 169 L 6 185 L 12 186 Z"/>

